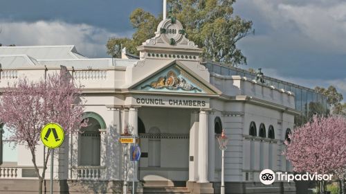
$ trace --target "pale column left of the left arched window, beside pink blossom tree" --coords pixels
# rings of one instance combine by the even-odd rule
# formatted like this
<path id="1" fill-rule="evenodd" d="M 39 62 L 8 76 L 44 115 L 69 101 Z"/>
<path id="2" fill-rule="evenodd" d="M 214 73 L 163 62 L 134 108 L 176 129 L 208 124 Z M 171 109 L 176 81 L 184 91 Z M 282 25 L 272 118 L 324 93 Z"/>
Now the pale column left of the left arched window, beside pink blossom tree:
<path id="1" fill-rule="evenodd" d="M 77 169 L 75 167 L 78 166 L 78 136 L 79 132 L 78 130 L 75 130 L 71 132 L 71 141 L 70 141 L 70 173 L 69 178 L 70 179 L 77 179 Z"/>

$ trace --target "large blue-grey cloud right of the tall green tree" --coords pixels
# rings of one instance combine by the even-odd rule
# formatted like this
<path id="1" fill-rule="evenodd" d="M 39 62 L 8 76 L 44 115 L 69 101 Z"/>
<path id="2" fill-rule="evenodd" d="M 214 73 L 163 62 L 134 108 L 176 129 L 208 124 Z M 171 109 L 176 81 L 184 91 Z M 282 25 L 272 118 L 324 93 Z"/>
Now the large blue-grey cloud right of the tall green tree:
<path id="1" fill-rule="evenodd" d="M 346 3 L 239 2 L 235 4 L 236 14 L 253 20 L 256 31 L 238 44 L 250 67 L 277 69 L 285 78 L 346 77 Z"/>

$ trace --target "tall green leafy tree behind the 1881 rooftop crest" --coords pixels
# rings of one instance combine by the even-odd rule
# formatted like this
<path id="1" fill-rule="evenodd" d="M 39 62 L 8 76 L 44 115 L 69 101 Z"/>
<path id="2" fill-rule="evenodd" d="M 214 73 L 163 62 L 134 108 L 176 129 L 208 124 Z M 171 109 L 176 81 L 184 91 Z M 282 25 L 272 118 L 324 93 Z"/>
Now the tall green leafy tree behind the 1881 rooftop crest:
<path id="1" fill-rule="evenodd" d="M 246 64 L 246 57 L 237 48 L 237 42 L 254 33 L 252 21 L 246 21 L 233 15 L 235 0 L 168 0 L 172 6 L 172 16 L 183 24 L 188 38 L 203 48 L 203 56 L 215 62 L 225 62 L 230 66 Z M 114 53 L 115 44 L 127 44 L 127 51 L 138 54 L 136 46 L 146 39 L 154 37 L 161 16 L 154 17 L 149 12 L 136 9 L 131 13 L 130 21 L 136 29 L 132 39 L 111 37 L 107 42 L 107 53 Z"/>

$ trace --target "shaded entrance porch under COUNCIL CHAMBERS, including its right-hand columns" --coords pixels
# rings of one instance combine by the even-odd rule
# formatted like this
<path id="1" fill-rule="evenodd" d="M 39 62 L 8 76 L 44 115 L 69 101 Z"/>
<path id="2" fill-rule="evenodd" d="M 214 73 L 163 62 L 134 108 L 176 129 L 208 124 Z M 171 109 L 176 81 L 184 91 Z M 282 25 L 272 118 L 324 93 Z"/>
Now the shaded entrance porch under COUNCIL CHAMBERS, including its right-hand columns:
<path id="1" fill-rule="evenodd" d="M 201 193 L 214 193 L 208 181 L 208 144 L 215 139 L 208 116 L 206 109 L 138 108 L 138 179 L 144 186 L 197 186 Z"/>

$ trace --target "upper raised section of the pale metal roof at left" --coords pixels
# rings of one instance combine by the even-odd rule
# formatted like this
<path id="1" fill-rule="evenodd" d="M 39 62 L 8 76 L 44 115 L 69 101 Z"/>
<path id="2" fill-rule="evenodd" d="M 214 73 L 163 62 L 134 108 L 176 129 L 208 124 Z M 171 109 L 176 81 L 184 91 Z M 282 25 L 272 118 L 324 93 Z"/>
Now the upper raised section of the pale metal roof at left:
<path id="1" fill-rule="evenodd" d="M 37 60 L 85 58 L 73 45 L 60 46 L 0 46 L 0 55 L 29 55 Z"/>

